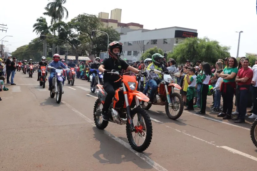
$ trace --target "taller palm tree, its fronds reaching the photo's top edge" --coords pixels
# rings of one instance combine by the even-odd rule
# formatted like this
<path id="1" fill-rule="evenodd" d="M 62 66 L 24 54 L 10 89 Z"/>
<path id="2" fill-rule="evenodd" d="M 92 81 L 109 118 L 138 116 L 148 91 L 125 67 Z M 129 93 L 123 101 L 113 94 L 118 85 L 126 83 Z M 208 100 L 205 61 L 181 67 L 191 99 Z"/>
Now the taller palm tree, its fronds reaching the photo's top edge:
<path id="1" fill-rule="evenodd" d="M 53 2 L 49 2 L 45 10 L 46 12 L 43 13 L 44 15 L 48 15 L 51 17 L 51 24 L 61 21 L 64 18 L 64 14 L 66 14 L 66 19 L 69 16 L 68 10 L 62 6 L 66 3 L 66 0 L 53 0 Z M 58 35 L 59 35 L 59 29 L 58 29 Z M 55 36 L 55 30 L 54 30 L 54 36 Z M 55 52 L 55 44 L 53 44 L 52 53 Z M 57 46 L 57 53 L 59 53 L 59 46 Z"/>

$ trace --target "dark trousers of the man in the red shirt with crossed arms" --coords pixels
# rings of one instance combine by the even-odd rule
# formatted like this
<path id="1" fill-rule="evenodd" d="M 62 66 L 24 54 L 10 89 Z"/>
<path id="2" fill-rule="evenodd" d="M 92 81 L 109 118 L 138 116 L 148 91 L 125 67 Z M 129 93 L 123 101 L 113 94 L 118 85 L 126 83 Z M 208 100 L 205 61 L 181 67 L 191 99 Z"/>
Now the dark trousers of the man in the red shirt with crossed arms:
<path id="1" fill-rule="evenodd" d="M 248 92 L 249 90 L 239 90 L 239 92 L 236 94 L 236 106 L 238 107 L 239 119 L 244 120 L 248 102 Z"/>

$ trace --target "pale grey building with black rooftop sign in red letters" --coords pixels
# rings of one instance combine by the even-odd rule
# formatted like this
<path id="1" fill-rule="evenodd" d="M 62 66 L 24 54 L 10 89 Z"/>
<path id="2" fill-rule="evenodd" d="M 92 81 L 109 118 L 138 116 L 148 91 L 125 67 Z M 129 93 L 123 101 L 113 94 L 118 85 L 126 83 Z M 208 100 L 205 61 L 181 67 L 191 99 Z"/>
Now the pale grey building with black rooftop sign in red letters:
<path id="1" fill-rule="evenodd" d="M 138 61 L 141 54 L 149 48 L 157 46 L 163 49 L 164 53 L 168 53 L 185 38 L 197 37 L 198 35 L 196 29 L 182 27 L 168 27 L 154 30 L 117 28 L 116 30 L 121 33 L 120 41 L 123 43 L 121 58 L 126 58 L 130 64 Z"/>

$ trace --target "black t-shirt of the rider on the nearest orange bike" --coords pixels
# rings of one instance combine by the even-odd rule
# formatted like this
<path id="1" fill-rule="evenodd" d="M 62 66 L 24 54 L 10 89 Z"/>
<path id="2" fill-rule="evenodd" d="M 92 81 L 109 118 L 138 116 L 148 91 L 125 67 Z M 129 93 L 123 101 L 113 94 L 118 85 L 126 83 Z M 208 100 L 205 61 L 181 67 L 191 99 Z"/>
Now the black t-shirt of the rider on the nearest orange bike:
<path id="1" fill-rule="evenodd" d="M 118 70 L 121 71 L 122 69 L 126 70 L 129 66 L 124 60 L 120 59 L 118 61 L 114 61 L 112 58 L 105 58 L 101 65 L 104 65 L 104 69 L 106 70 Z M 108 73 L 105 73 L 103 75 L 103 81 L 104 82 L 114 82 L 117 81 L 120 77 L 117 75 L 111 75 Z"/>

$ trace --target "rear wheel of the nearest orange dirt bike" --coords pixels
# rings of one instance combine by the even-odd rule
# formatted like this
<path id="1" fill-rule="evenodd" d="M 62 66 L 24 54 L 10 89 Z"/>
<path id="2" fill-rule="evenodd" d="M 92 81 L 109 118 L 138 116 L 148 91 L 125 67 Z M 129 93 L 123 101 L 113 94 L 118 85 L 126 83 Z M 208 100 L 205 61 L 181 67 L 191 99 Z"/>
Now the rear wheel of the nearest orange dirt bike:
<path id="1" fill-rule="evenodd" d="M 106 126 L 108 125 L 109 121 L 105 121 L 102 119 L 102 116 L 98 116 L 95 114 L 96 111 L 102 111 L 102 109 L 99 109 L 100 107 L 102 106 L 102 103 L 100 102 L 99 99 L 97 99 L 94 103 L 94 111 L 93 111 L 93 114 L 94 114 L 94 123 L 95 123 L 95 126 L 100 129 L 100 130 L 103 130 L 104 128 L 106 128 Z M 100 121 L 102 120 L 102 121 Z"/>

